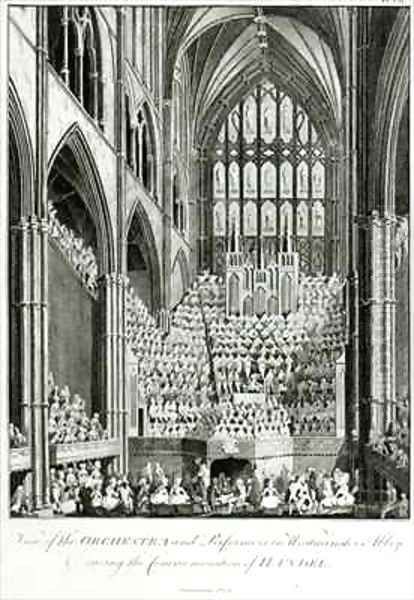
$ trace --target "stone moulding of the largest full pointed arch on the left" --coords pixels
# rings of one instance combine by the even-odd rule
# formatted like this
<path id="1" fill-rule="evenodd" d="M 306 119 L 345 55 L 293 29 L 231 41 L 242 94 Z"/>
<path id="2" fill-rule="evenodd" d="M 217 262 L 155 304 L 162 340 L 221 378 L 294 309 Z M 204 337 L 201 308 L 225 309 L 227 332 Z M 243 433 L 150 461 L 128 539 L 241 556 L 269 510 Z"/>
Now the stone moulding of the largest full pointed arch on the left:
<path id="1" fill-rule="evenodd" d="M 100 273 L 110 273 L 115 268 L 115 248 L 108 204 L 92 151 L 77 123 L 69 127 L 53 151 L 48 164 L 48 176 L 64 148 L 70 150 L 75 160 L 80 175 L 76 180 L 77 191 L 96 227 Z"/>

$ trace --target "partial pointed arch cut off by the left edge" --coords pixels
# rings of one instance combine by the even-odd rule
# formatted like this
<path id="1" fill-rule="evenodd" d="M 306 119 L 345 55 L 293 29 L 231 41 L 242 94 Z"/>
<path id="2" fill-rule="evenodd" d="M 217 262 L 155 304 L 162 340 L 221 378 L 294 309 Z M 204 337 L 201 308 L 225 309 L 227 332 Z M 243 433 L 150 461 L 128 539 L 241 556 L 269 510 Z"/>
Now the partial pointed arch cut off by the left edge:
<path id="1" fill-rule="evenodd" d="M 29 128 L 16 87 L 9 79 L 8 94 L 9 128 L 9 195 L 11 187 L 16 190 L 15 202 L 10 206 L 10 220 L 34 213 L 34 158 Z"/>

